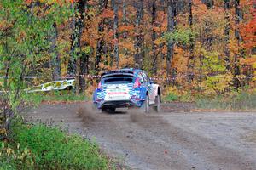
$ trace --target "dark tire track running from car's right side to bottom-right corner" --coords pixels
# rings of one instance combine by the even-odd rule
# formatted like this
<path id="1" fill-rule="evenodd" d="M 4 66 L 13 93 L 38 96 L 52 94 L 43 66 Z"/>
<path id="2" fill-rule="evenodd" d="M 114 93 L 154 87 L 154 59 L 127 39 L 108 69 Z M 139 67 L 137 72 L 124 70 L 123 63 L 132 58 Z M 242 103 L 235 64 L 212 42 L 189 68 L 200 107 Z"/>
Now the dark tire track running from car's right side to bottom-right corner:
<path id="1" fill-rule="evenodd" d="M 186 132 L 168 123 L 168 126 L 156 126 L 165 122 L 164 117 L 152 116 L 148 121 L 142 117 L 137 123 L 152 132 L 155 139 L 170 150 L 180 151 L 191 168 L 195 169 L 256 169 L 256 161 L 245 160 L 239 152 L 219 146 L 210 139 L 195 133 Z"/>

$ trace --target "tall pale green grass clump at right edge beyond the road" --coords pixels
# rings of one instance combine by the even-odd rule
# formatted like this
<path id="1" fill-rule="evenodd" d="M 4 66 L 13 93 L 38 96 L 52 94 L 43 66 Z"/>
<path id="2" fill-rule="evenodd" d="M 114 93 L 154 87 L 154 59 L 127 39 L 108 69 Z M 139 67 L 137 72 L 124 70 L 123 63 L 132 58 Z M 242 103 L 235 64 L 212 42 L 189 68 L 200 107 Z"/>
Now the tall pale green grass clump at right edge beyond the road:
<path id="1" fill-rule="evenodd" d="M 256 110 L 256 94 L 241 92 L 229 96 L 214 98 L 198 98 L 196 105 L 201 109 L 216 109 L 228 111 L 254 111 Z"/>

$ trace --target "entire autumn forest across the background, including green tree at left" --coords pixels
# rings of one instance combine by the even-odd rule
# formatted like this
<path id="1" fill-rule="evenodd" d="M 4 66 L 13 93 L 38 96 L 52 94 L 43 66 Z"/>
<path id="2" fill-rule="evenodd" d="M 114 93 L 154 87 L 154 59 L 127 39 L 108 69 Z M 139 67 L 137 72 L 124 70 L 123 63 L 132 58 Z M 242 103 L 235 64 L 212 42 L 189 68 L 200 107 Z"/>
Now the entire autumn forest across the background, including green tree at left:
<path id="1" fill-rule="evenodd" d="M 25 89 L 75 79 L 73 93 L 90 97 L 103 71 L 120 68 L 147 71 L 166 100 L 245 105 L 256 96 L 256 1 L 1 0 L 1 139 L 33 102 Z"/>

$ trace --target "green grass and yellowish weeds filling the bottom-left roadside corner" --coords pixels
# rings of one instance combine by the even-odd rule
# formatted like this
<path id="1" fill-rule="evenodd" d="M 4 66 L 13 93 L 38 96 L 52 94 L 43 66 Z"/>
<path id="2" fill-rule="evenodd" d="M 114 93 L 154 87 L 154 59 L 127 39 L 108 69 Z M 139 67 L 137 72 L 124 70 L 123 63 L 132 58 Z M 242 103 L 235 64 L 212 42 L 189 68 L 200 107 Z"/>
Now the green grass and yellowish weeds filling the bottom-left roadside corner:
<path id="1" fill-rule="evenodd" d="M 0 142 L 0 169 L 115 169 L 98 145 L 57 127 L 20 124 Z"/>

